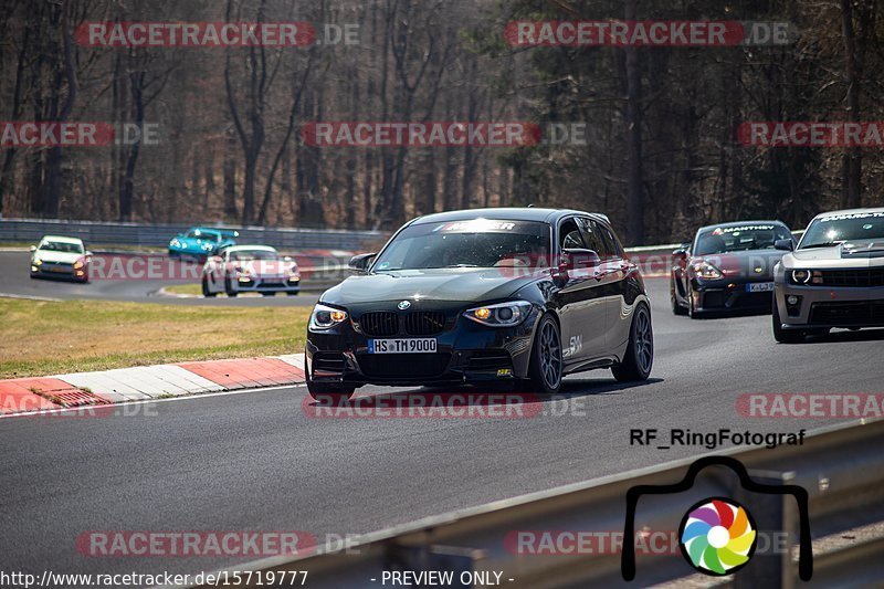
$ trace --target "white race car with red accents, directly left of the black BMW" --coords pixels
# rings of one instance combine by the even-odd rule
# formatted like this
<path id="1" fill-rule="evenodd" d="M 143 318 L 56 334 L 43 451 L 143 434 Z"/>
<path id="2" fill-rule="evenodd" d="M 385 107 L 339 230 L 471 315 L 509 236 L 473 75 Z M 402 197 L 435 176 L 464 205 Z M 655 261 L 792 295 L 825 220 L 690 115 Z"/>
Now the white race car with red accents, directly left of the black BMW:
<path id="1" fill-rule="evenodd" d="M 301 292 L 301 273 L 288 256 L 269 245 L 231 245 L 209 257 L 202 266 L 202 294 L 261 293 L 290 296 Z"/>

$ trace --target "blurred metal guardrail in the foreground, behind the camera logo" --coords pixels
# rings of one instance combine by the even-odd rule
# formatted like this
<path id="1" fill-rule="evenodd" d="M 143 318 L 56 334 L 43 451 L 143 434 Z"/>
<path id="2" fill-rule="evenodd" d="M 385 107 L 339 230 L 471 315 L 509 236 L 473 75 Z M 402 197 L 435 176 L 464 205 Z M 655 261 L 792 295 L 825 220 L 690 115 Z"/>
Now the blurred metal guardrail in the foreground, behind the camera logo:
<path id="1" fill-rule="evenodd" d="M 803 445 L 732 449 L 716 455 L 738 459 L 756 481 L 788 482 L 807 490 L 811 532 L 814 537 L 821 537 L 882 519 L 883 443 L 884 421 L 874 421 L 821 430 L 809 435 Z M 430 517 L 362 536 L 347 550 L 332 551 L 326 546 L 312 556 L 267 558 L 235 569 L 306 570 L 309 571 L 309 587 L 379 587 L 383 571 L 390 570 L 505 571 L 503 580 L 508 582 L 503 585 L 507 587 L 625 585 L 619 554 L 514 554 L 507 549 L 507 537 L 517 530 L 623 530 L 629 488 L 677 483 L 694 461 L 682 460 Z M 695 502 L 725 496 L 739 501 L 756 516 L 772 515 L 777 529 L 796 532 L 794 501 L 782 495 L 767 495 L 760 504 L 748 503 L 736 476 L 725 476 L 725 473 L 730 471 L 709 467 L 701 472 L 690 492 L 641 499 L 635 529 L 675 530 Z M 880 583 L 884 578 L 882 546 L 884 539 L 874 537 L 815 555 L 813 580 L 822 581 L 821 586 L 825 587 Z M 760 565 L 755 564 L 757 558 L 762 560 Z M 682 579 L 694 572 L 680 554 L 640 555 L 636 570 L 633 587 Z M 227 572 L 232 575 L 233 569 Z M 797 574 L 791 550 L 780 551 L 779 556 L 756 555 L 729 585 L 789 588 L 797 583 Z M 728 578 L 722 580 L 728 581 Z M 256 582 L 241 585 L 257 586 Z"/>

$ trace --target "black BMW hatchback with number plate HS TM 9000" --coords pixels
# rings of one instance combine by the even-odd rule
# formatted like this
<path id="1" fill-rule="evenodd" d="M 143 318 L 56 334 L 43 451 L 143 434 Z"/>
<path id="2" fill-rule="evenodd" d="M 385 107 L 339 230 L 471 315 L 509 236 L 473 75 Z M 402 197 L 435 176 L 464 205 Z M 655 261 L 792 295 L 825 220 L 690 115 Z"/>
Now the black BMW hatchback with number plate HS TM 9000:
<path id="1" fill-rule="evenodd" d="M 607 217 L 477 209 L 406 223 L 326 291 L 307 327 L 307 387 L 362 385 L 559 390 L 568 374 L 651 372 L 644 283 Z"/>

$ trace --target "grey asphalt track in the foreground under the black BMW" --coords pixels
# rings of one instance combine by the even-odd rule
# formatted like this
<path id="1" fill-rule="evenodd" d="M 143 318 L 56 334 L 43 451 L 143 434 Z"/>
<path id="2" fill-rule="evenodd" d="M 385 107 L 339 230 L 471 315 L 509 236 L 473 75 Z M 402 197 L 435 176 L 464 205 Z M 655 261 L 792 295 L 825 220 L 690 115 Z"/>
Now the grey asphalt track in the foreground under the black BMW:
<path id="1" fill-rule="evenodd" d="M 295 387 L 158 402 L 131 417 L 0 419 L 0 570 L 213 570 L 252 558 L 88 557 L 75 540 L 87 530 L 367 533 L 708 452 L 631 446 L 632 428 L 835 422 L 743 418 L 741 393 L 882 391 L 882 330 L 777 345 L 769 316 L 675 317 L 666 281 L 649 290 L 651 380 L 572 377 L 533 418 L 314 419 Z"/>

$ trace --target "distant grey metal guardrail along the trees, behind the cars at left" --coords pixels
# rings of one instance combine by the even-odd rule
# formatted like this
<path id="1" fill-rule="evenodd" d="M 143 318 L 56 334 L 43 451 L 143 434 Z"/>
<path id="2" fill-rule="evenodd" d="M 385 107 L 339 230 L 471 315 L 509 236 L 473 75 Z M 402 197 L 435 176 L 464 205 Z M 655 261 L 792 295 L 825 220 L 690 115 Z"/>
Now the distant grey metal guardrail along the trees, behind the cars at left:
<path id="1" fill-rule="evenodd" d="M 86 244 L 166 248 L 169 240 L 193 224 L 140 224 L 54 219 L 0 219 L 0 242 L 33 242 L 46 234 L 80 238 Z M 387 239 L 379 231 L 336 229 L 277 229 L 211 225 L 240 232 L 240 243 L 262 243 L 280 249 L 362 250 Z"/>

